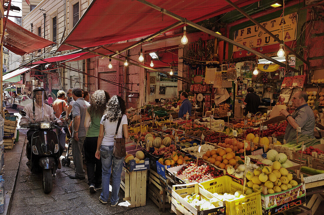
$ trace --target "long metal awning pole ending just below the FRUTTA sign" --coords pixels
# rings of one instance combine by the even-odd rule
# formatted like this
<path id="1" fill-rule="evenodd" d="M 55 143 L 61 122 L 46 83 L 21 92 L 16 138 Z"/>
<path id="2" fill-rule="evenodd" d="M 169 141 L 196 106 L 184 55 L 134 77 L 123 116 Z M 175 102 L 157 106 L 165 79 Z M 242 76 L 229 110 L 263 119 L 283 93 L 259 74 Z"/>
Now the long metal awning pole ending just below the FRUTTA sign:
<path id="1" fill-rule="evenodd" d="M 174 13 L 172 13 L 172 12 L 170 12 L 170 11 L 164 9 L 164 8 L 156 6 L 156 5 L 154 5 L 154 4 L 150 3 L 150 2 L 147 2 L 145 0 L 136 0 L 136 1 L 141 2 L 141 3 L 143 3 L 143 4 L 145 4 L 145 5 L 149 6 L 149 7 L 152 7 L 152 8 L 160 11 L 161 13 L 163 13 L 165 15 L 168 15 L 168 16 L 174 18 L 174 19 L 177 19 L 177 20 L 179 20 L 179 21 L 181 21 L 183 23 L 186 23 L 187 25 L 192 26 L 194 28 L 197 28 L 198 30 L 201 30 L 201 31 L 203 31 L 203 32 L 205 32 L 205 33 L 207 33 L 209 35 L 212 35 L 212 36 L 217 37 L 217 38 L 219 38 L 221 40 L 224 40 L 229 44 L 240 47 L 240 48 L 242 48 L 242 49 L 244 49 L 246 51 L 251 52 L 252 54 L 255 54 L 255 55 L 258 55 L 258 56 L 260 56 L 262 58 L 265 58 L 265 59 L 267 59 L 267 60 L 269 60 L 269 61 L 271 61 L 271 62 L 273 62 L 275 64 L 278 64 L 278 65 L 280 65 L 282 67 L 286 67 L 287 69 L 290 69 L 291 71 L 299 72 L 297 69 L 295 69 L 293 67 L 290 67 L 290 66 L 288 66 L 286 64 L 283 64 L 282 62 L 279 62 L 279 61 L 277 61 L 275 59 L 272 59 L 271 57 L 268 57 L 268 56 L 266 56 L 266 55 L 264 55 L 264 54 L 262 54 L 260 52 L 257 52 L 257 51 L 255 51 L 255 50 L 253 50 L 251 48 L 243 46 L 242 44 L 239 44 L 239 43 L 235 42 L 234 40 L 231 40 L 231 39 L 229 39 L 229 38 L 227 38 L 227 37 L 225 37 L 223 35 L 216 34 L 214 31 L 209 30 L 207 28 L 204 28 L 203 26 L 200 26 L 200 25 L 198 25 L 198 24 L 196 24 L 194 22 L 191 22 L 191 21 L 187 20 L 186 18 L 183 18 L 183 17 L 181 17 L 179 15 L 176 15 L 176 14 L 174 14 Z"/>

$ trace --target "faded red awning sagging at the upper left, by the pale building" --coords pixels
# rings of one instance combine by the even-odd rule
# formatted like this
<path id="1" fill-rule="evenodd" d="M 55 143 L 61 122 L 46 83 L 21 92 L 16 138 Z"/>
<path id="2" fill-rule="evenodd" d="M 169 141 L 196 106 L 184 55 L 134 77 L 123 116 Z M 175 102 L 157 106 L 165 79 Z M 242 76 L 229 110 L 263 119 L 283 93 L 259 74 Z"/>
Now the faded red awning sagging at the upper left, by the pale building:
<path id="1" fill-rule="evenodd" d="M 3 46 L 17 55 L 24 55 L 55 44 L 52 41 L 31 33 L 9 19 L 6 25 L 6 32 L 8 35 L 4 37 Z"/>

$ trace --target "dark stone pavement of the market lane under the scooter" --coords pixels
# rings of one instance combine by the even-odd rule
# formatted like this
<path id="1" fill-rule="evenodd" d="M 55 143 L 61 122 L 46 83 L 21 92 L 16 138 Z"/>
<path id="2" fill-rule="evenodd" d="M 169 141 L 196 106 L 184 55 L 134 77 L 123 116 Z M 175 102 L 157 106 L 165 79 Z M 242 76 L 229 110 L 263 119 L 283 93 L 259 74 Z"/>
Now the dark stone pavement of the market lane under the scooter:
<path id="1" fill-rule="evenodd" d="M 159 212 L 149 198 L 146 198 L 146 206 L 128 208 L 122 200 L 122 189 L 119 192 L 118 206 L 111 207 L 109 202 L 103 205 L 99 202 L 101 191 L 90 194 L 87 179 L 68 177 L 68 174 L 74 173 L 72 164 L 58 169 L 52 192 L 45 194 L 41 175 L 32 175 L 26 166 L 26 132 L 26 129 L 20 129 L 18 143 L 13 150 L 5 153 L 6 193 L 11 197 L 6 214 L 170 214 L 167 211 Z M 84 168 L 86 169 L 85 166 Z"/>

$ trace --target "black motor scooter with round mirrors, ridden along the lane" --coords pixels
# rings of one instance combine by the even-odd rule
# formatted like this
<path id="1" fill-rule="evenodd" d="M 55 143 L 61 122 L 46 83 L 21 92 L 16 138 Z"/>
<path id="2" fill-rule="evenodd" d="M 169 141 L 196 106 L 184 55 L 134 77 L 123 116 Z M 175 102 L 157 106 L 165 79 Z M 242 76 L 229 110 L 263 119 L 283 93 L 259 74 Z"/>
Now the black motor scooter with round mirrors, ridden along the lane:
<path id="1" fill-rule="evenodd" d="M 19 114 L 28 120 L 24 127 L 35 130 L 32 135 L 30 165 L 27 165 L 32 173 L 43 175 L 44 193 L 50 193 L 53 187 L 53 177 L 60 162 L 59 141 L 53 128 L 61 129 L 61 126 L 55 125 L 54 121 L 44 120 L 33 122 L 25 111 L 19 110 Z M 62 118 L 66 112 L 62 112 Z M 61 119 L 61 118 L 59 118 Z M 58 119 L 57 119 L 58 120 Z"/>

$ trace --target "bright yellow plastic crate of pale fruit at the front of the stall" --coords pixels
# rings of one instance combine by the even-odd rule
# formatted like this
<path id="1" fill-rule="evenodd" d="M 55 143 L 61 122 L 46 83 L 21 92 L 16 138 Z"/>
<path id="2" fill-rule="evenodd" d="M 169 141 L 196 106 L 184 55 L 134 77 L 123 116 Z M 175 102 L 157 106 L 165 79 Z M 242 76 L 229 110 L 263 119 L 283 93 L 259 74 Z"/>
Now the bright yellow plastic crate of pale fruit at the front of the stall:
<path id="1" fill-rule="evenodd" d="M 207 191 L 218 194 L 235 193 L 243 190 L 243 185 L 235 182 L 229 176 L 221 176 L 205 182 L 199 183 Z M 245 191 L 248 188 L 245 186 Z M 251 193 L 245 198 L 226 201 L 226 215 L 259 215 L 262 214 L 260 192 Z"/>

